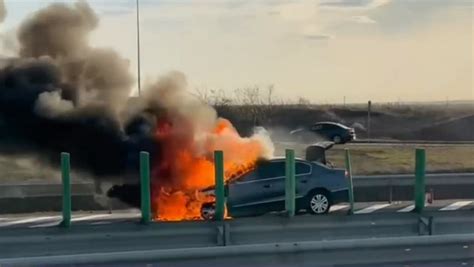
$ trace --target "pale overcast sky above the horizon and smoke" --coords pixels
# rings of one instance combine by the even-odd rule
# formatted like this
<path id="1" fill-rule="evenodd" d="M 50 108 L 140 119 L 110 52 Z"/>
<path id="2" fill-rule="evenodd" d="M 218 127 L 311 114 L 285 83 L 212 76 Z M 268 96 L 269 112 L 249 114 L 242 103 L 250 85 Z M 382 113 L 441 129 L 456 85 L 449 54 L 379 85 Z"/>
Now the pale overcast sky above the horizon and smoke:
<path id="1" fill-rule="evenodd" d="M 12 35 L 50 0 L 5 0 Z M 135 0 L 89 0 L 95 46 L 136 68 Z M 473 0 L 141 0 L 142 79 L 274 85 L 315 103 L 473 99 Z"/>

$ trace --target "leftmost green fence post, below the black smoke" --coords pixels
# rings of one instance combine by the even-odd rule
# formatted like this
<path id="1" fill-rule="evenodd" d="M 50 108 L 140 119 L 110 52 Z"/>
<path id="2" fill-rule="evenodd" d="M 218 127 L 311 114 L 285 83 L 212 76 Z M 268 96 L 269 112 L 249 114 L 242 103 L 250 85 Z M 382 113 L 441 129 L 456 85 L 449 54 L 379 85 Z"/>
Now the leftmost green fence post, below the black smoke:
<path id="1" fill-rule="evenodd" d="M 60 226 L 71 226 L 71 163 L 69 153 L 61 153 L 61 176 L 63 182 L 63 220 Z"/>

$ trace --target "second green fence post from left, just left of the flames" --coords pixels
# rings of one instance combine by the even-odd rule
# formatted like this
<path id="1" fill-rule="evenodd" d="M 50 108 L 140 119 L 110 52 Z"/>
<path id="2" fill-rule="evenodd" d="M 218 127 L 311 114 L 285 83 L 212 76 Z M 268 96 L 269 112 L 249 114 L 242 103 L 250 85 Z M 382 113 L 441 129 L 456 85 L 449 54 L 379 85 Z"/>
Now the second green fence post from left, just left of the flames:
<path id="1" fill-rule="evenodd" d="M 148 224 L 151 221 L 150 206 L 150 154 L 140 152 L 140 207 L 142 210 L 141 223 Z"/>

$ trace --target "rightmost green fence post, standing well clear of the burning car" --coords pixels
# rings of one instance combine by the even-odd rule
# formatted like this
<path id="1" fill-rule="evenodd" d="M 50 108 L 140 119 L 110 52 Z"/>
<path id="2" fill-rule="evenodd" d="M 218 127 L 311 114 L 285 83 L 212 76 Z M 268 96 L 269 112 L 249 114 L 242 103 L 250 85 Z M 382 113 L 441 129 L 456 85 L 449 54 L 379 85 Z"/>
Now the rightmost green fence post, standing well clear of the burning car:
<path id="1" fill-rule="evenodd" d="M 425 208 L 425 171 L 426 153 L 423 148 L 416 149 L 415 157 L 415 212 L 421 213 Z"/>

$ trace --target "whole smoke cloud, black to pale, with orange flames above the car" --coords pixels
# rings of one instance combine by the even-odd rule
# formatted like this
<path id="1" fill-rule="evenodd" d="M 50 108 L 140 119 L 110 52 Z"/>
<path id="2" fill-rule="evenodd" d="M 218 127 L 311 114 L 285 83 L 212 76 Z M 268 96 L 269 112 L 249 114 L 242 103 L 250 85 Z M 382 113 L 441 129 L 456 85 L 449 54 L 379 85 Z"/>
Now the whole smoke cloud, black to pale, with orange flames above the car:
<path id="1" fill-rule="evenodd" d="M 98 23 L 89 5 L 78 1 L 50 5 L 21 24 L 18 56 L 0 62 L 0 154 L 40 154 L 56 164 L 58 153 L 67 151 L 73 168 L 93 178 L 138 182 L 138 155 L 145 150 L 153 168 L 159 166 L 154 183 L 161 189 L 197 190 L 209 185 L 209 177 L 198 183 L 189 175 L 193 168 L 180 169 L 175 157 L 183 151 L 195 160 L 191 167 L 212 162 L 215 149 L 237 165 L 242 146 L 250 153 L 242 163 L 273 153 L 264 131 L 241 138 L 212 107 L 188 94 L 180 72 L 130 98 L 134 77 L 128 61 L 112 49 L 89 45 Z M 136 204 L 126 191 L 119 197 Z"/>

